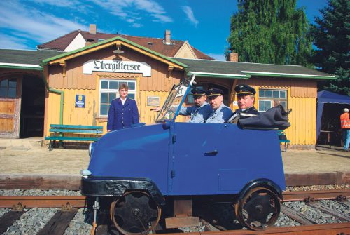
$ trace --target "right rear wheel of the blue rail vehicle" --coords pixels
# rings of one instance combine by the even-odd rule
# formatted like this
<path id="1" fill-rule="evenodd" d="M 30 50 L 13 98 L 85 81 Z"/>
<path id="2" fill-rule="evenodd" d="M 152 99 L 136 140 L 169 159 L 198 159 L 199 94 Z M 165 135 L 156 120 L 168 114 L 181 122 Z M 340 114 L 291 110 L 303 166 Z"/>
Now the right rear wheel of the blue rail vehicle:
<path id="1" fill-rule="evenodd" d="M 279 218 L 281 204 L 274 192 L 264 187 L 256 187 L 237 202 L 235 210 L 242 225 L 262 231 L 272 226 Z"/>

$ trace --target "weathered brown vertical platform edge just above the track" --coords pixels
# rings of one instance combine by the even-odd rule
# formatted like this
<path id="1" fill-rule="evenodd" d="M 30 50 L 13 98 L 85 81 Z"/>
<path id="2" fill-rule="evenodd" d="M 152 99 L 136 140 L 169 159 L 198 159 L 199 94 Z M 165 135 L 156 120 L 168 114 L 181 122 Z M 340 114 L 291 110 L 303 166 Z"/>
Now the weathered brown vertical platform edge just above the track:
<path id="1" fill-rule="evenodd" d="M 350 172 L 285 174 L 286 186 L 350 184 Z M 0 175 L 0 189 L 80 189 L 80 175 Z"/>

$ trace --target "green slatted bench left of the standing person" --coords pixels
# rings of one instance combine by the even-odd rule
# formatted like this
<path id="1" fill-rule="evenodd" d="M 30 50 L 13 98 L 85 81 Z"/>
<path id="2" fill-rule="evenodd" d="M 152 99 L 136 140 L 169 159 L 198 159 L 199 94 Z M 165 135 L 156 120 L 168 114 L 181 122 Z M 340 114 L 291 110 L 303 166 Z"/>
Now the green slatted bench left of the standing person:
<path id="1" fill-rule="evenodd" d="M 99 135 L 103 133 L 103 126 L 81 126 L 81 125 L 50 125 L 51 136 L 45 137 L 45 140 L 50 140 L 48 148 L 52 150 L 55 141 L 59 140 L 59 146 L 62 147 L 64 140 L 71 141 L 97 141 Z M 74 136 L 64 136 L 64 133 L 71 133 Z M 82 137 L 78 135 L 94 135 L 94 137 Z M 52 143 L 53 141 L 53 143 Z"/>

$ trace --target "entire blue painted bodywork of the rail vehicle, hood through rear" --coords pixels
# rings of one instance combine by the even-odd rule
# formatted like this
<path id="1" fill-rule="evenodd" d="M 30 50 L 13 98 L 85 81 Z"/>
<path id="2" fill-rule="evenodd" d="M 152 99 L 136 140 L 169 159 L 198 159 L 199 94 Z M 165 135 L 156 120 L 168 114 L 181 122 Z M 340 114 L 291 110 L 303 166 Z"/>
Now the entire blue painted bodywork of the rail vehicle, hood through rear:
<path id="1" fill-rule="evenodd" d="M 94 146 L 91 177 L 149 178 L 168 196 L 238 194 L 259 178 L 285 189 L 276 130 L 167 122 L 104 135 Z"/>

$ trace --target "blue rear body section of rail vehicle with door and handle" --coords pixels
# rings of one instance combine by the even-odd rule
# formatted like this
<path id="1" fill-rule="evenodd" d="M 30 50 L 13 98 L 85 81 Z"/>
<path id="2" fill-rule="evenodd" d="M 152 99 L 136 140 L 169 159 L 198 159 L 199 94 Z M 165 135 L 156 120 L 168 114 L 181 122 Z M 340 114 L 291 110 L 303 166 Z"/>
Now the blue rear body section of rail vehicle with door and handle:
<path id="1" fill-rule="evenodd" d="M 236 124 L 174 123 L 170 195 L 237 194 L 267 178 L 285 189 L 276 130 L 242 130 Z"/>

